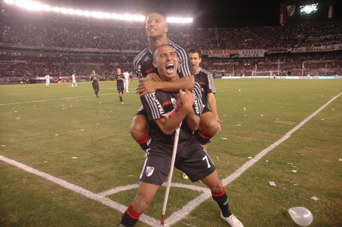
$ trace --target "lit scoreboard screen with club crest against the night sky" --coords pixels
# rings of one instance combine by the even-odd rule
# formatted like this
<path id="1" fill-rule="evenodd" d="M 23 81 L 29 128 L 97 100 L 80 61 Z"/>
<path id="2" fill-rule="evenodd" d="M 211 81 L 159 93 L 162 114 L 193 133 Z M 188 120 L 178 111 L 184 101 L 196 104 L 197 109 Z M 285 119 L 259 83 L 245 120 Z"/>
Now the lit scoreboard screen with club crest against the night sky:
<path id="1" fill-rule="evenodd" d="M 324 18 L 327 5 L 324 0 L 297 0 L 285 3 L 286 22 L 300 22 Z"/>

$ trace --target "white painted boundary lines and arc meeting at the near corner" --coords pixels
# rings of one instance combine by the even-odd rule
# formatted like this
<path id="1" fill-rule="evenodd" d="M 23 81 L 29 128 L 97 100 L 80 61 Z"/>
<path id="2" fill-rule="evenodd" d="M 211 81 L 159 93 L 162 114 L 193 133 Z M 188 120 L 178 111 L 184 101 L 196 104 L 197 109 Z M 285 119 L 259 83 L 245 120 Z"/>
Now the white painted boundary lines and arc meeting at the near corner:
<path id="1" fill-rule="evenodd" d="M 115 93 L 116 94 L 116 93 Z M 109 95 L 109 94 L 104 94 L 104 95 Z M 284 142 L 285 140 L 287 140 L 295 131 L 297 131 L 300 127 L 302 127 L 308 120 L 310 120 L 312 117 L 314 117 L 316 114 L 318 114 L 321 110 L 323 110 L 327 105 L 329 105 L 333 100 L 335 100 L 336 98 L 338 98 L 340 95 L 342 95 L 342 93 L 340 93 L 339 95 L 333 97 L 330 101 L 328 101 L 326 104 L 324 104 L 321 108 L 319 108 L 317 111 L 315 111 L 313 114 L 311 114 L 310 116 L 308 116 L 307 118 L 305 118 L 300 124 L 298 124 L 296 127 L 294 127 L 293 129 L 291 129 L 289 132 L 287 132 L 285 134 L 285 136 L 283 136 L 281 139 L 279 139 L 277 142 L 271 144 L 270 146 L 268 146 L 267 148 L 265 148 L 264 150 L 262 150 L 259 154 L 257 154 L 253 159 L 247 161 L 244 165 L 242 165 L 239 169 L 237 169 L 234 173 L 232 173 L 231 175 L 227 176 L 225 179 L 222 180 L 223 185 L 226 186 L 229 183 L 231 183 L 232 181 L 234 181 L 236 178 L 238 178 L 243 172 L 245 172 L 249 167 L 251 167 L 255 162 L 257 162 L 258 160 L 260 160 L 265 154 L 267 154 L 269 151 L 271 151 L 273 148 L 275 148 L 276 146 L 278 146 L 279 144 L 281 144 L 282 142 Z M 75 97 L 76 98 L 76 97 Z M 2 155 L 0 155 L 0 160 L 5 161 L 11 165 L 14 165 L 20 169 L 23 169 L 27 172 L 33 173 L 35 175 L 41 176 L 42 178 L 45 178 L 49 181 L 52 181 L 56 184 L 59 184 L 65 188 L 68 188 L 72 191 L 75 191 L 76 193 L 79 193 L 81 195 L 84 195 L 90 199 L 93 199 L 95 201 L 98 201 L 104 205 L 107 205 L 108 207 L 111 207 L 115 210 L 120 211 L 121 213 L 124 213 L 126 211 L 126 206 L 117 203 L 111 199 L 106 198 L 106 195 L 111 195 L 114 193 L 117 193 L 119 191 L 122 190 L 128 190 L 128 189 L 132 189 L 132 188 L 136 188 L 137 184 L 133 184 L 133 185 L 128 185 L 128 186 L 124 186 L 124 187 L 117 187 L 108 191 L 104 191 L 102 193 L 99 194 L 95 194 L 92 193 L 91 191 L 88 191 L 82 187 L 79 187 L 77 185 L 71 184 L 67 181 L 58 179 L 50 174 L 38 171 L 34 168 L 31 168 L 29 166 L 26 166 L 20 162 L 14 161 L 12 159 L 6 158 Z M 166 183 L 163 183 L 162 186 L 165 186 Z M 205 200 L 209 199 L 211 197 L 211 193 L 210 190 L 208 188 L 204 188 L 204 187 L 199 187 L 199 186 L 194 186 L 194 185 L 185 185 L 185 184 L 179 184 L 179 183 L 172 183 L 171 184 L 174 187 L 184 187 L 184 188 L 188 188 L 188 189 L 192 189 L 192 190 L 197 190 L 197 191 L 203 191 L 203 193 L 196 197 L 195 199 L 191 200 L 190 202 L 188 202 L 184 207 L 182 207 L 182 209 L 174 212 L 172 215 L 170 215 L 170 217 L 168 217 L 165 220 L 165 226 L 171 226 L 177 222 L 179 222 L 181 219 L 185 218 L 192 210 L 194 210 L 198 205 L 200 205 L 202 202 L 204 202 Z M 150 226 L 160 226 L 160 221 L 156 220 L 152 217 L 149 217 L 147 215 L 141 215 L 141 217 L 139 218 L 139 220 L 141 222 L 144 222 Z"/>

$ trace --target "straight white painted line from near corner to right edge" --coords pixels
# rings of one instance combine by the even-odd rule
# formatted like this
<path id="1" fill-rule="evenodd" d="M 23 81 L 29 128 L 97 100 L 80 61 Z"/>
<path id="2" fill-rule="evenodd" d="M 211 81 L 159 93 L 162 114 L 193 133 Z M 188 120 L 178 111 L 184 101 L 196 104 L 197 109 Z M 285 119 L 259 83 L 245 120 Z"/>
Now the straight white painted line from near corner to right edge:
<path id="1" fill-rule="evenodd" d="M 277 142 L 269 145 L 267 148 L 262 150 L 260 153 L 254 156 L 253 159 L 247 161 L 244 165 L 242 165 L 240 168 L 235 170 L 234 173 L 227 176 L 225 179 L 222 180 L 222 183 L 224 186 L 228 185 L 232 181 L 234 181 L 236 178 L 238 178 L 243 172 L 245 172 L 249 167 L 251 167 L 255 162 L 260 160 L 265 154 L 267 154 L 269 151 L 271 151 L 273 148 L 280 145 L 282 142 L 287 140 L 295 131 L 297 131 L 300 127 L 302 127 L 308 120 L 313 118 L 316 114 L 318 114 L 321 110 L 323 110 L 327 105 L 329 105 L 333 100 L 338 98 L 342 93 L 339 95 L 333 97 L 330 101 L 328 101 L 326 104 L 324 104 L 321 108 L 319 108 L 317 111 L 315 111 L 313 114 L 305 118 L 301 123 L 299 123 L 296 127 L 291 129 L 289 132 L 285 134 L 281 139 L 279 139 Z M 171 214 L 166 220 L 165 223 L 168 223 L 168 225 L 173 225 L 183 218 L 185 218 L 192 210 L 194 210 L 198 205 L 200 205 L 205 200 L 209 199 L 211 197 L 211 193 L 203 193 L 202 195 L 196 197 L 192 201 L 188 202 L 182 209 L 174 212 Z"/>

